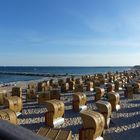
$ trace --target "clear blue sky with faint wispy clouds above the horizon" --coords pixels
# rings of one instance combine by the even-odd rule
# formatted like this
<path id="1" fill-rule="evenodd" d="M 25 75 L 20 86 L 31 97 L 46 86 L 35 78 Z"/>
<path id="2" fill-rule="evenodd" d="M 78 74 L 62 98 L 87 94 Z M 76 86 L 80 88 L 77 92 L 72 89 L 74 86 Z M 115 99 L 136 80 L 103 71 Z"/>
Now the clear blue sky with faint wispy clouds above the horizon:
<path id="1" fill-rule="evenodd" d="M 140 0 L 0 0 L 1 66 L 140 64 Z"/>

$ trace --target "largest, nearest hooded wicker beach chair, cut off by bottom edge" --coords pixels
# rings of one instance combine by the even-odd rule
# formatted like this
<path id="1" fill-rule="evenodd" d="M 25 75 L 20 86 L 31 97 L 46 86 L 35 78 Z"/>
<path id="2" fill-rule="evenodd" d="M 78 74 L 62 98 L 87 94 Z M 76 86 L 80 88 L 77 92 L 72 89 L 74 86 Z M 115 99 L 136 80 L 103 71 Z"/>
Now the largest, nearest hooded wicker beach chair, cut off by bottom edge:
<path id="1" fill-rule="evenodd" d="M 81 111 L 83 127 L 79 131 L 79 140 L 103 140 L 104 116 L 95 111 Z"/>

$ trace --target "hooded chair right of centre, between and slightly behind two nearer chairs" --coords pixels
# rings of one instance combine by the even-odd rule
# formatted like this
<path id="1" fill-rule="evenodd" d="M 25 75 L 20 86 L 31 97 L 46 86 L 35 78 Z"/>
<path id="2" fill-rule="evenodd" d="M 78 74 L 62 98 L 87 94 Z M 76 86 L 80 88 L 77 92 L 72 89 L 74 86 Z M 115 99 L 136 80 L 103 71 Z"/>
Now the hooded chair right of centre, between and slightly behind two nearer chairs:
<path id="1" fill-rule="evenodd" d="M 95 101 L 98 101 L 104 96 L 105 90 L 101 87 L 95 87 L 95 92 Z"/>

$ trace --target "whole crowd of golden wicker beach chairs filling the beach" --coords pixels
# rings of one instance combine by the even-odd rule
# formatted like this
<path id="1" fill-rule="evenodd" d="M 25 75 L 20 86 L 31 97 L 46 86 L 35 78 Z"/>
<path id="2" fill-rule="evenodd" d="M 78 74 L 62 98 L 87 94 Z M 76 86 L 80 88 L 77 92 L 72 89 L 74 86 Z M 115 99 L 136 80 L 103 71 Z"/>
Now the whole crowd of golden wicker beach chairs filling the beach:
<path id="1" fill-rule="evenodd" d="M 117 73 L 98 74 L 94 76 L 82 76 L 81 79 L 73 77 L 59 79 L 54 82 L 42 81 L 36 84 L 29 84 L 26 90 L 26 101 L 38 100 L 39 104 L 47 107 L 45 113 L 46 128 L 40 128 L 38 135 L 50 139 L 71 140 L 72 132 L 55 129 L 57 125 L 64 123 L 65 106 L 61 100 L 61 93 L 73 93 L 72 108 L 80 112 L 83 126 L 79 130 L 79 140 L 103 139 L 104 129 L 109 128 L 112 111 L 120 109 L 119 89 L 124 90 L 126 98 L 133 98 L 133 94 L 140 93 L 140 81 L 137 78 L 139 73 Z M 73 83 L 73 89 L 70 87 Z M 88 110 L 87 97 L 84 91 L 95 91 L 95 102 L 97 111 Z M 17 124 L 17 114 L 22 112 L 22 89 L 13 87 L 11 96 L 5 91 L 0 93 L 0 104 L 4 109 L 0 110 L 0 119 Z"/>

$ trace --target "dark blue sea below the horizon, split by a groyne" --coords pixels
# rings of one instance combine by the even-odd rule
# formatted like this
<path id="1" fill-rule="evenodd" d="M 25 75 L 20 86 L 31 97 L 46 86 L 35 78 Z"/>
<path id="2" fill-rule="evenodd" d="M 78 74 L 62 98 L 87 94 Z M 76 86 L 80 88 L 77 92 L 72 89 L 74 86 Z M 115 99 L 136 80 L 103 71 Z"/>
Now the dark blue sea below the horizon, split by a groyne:
<path id="1" fill-rule="evenodd" d="M 55 75 L 87 75 L 107 72 L 122 72 L 131 70 L 132 67 L 41 67 L 41 66 L 1 66 L 0 72 L 15 73 L 36 73 L 36 74 L 55 74 Z M 0 74 L 0 84 L 29 81 L 43 78 L 42 76 L 24 76 L 24 75 L 7 75 Z"/>

